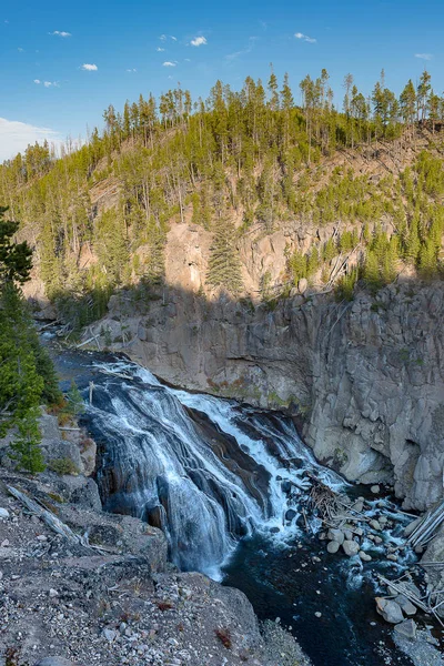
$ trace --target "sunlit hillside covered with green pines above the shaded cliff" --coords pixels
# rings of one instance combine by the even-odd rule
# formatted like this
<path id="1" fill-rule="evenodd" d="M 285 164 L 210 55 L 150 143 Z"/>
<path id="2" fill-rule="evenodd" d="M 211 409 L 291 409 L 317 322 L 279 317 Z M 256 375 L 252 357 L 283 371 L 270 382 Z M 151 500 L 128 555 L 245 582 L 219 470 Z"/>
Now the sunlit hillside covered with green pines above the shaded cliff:
<path id="1" fill-rule="evenodd" d="M 285 270 L 264 271 L 256 297 L 285 296 L 301 279 L 351 299 L 357 280 L 377 290 L 400 272 L 440 278 L 444 99 L 426 71 L 400 97 L 384 72 L 369 98 L 351 74 L 344 93 L 334 100 L 326 70 L 297 92 L 271 70 L 266 85 L 218 81 L 205 101 L 181 88 L 140 95 L 109 107 L 81 148 L 57 159 L 36 144 L 0 167 L 0 202 L 36 248 L 47 295 L 67 316 L 74 302 L 77 325 L 113 290 L 162 282 L 181 222 L 213 234 L 206 294 L 244 294 L 238 246 L 252 228 L 290 230 Z M 306 246 L 293 223 L 325 231 Z"/>

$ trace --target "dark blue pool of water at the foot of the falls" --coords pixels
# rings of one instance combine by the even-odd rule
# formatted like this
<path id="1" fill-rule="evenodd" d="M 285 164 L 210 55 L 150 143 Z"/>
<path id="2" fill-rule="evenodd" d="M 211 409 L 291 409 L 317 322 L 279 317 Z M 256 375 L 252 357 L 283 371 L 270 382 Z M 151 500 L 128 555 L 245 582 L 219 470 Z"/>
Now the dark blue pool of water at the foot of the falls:
<path id="1" fill-rule="evenodd" d="M 276 548 L 261 535 L 242 541 L 224 584 L 242 589 L 260 619 L 279 617 L 291 627 L 315 666 L 412 666 L 375 612 L 371 569 L 321 554 L 315 537 L 299 543 L 302 547 Z M 321 562 L 313 562 L 317 556 Z"/>

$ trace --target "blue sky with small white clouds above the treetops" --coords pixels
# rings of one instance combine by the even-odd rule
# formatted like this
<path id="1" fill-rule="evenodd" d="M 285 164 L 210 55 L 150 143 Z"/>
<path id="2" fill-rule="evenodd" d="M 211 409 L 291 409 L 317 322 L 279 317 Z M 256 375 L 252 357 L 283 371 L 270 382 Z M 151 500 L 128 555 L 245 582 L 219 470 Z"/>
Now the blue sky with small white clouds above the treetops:
<path id="1" fill-rule="evenodd" d="M 336 105 L 347 72 L 367 94 L 382 68 L 400 92 L 426 65 L 442 94 L 444 2 L 8 0 L 0 57 L 3 160 L 36 139 L 84 137 L 109 103 L 121 109 L 140 92 L 159 95 L 180 81 L 196 98 L 218 78 L 233 88 L 246 75 L 266 82 L 270 62 L 296 93 L 325 67 Z"/>

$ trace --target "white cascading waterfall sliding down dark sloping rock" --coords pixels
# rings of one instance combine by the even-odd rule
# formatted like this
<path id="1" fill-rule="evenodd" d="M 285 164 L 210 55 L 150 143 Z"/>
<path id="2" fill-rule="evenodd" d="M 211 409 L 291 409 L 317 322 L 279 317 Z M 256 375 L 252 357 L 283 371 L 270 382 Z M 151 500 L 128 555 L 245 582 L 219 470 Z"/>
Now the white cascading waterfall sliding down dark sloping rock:
<path id="1" fill-rule="evenodd" d="M 170 389 L 125 361 L 100 370 L 89 415 L 104 508 L 161 527 L 181 569 L 216 577 L 242 536 L 294 537 L 307 472 L 344 485 L 283 415 Z"/>

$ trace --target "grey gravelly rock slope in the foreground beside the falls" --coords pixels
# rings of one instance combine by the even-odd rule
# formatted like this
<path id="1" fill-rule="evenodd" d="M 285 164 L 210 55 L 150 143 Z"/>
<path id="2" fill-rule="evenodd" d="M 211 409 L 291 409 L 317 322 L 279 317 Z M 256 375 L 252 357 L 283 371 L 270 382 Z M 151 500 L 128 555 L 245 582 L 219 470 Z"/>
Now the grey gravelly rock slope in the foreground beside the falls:
<path id="1" fill-rule="evenodd" d="M 44 414 L 41 424 L 43 447 L 80 465 L 80 448 L 63 438 L 57 418 Z M 6 462 L 8 440 L 1 451 Z M 279 625 L 261 633 L 243 593 L 170 565 L 160 529 L 103 513 L 84 474 L 93 468 L 90 454 L 75 475 L 30 478 L 0 467 L 0 664 L 309 665 Z M 80 543 L 56 534 L 8 486 L 46 507 Z"/>

